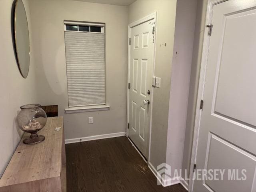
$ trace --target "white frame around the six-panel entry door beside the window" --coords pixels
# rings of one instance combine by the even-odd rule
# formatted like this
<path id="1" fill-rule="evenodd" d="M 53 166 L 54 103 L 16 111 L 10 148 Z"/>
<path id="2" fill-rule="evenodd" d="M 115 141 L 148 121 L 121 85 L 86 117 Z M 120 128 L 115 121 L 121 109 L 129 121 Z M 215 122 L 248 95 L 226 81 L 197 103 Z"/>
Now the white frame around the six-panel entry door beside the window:
<path id="1" fill-rule="evenodd" d="M 152 74 L 151 76 L 154 76 L 154 71 L 155 71 L 155 58 L 156 58 L 156 27 L 157 27 L 157 12 L 153 12 L 152 14 L 149 14 L 148 16 L 145 16 L 135 22 L 132 22 L 128 25 L 128 61 L 127 61 L 127 108 L 126 108 L 126 137 L 129 136 L 128 132 L 128 123 L 129 123 L 129 103 L 130 103 L 130 92 L 128 89 L 128 84 L 130 82 L 130 32 L 131 28 L 140 25 L 144 22 L 147 22 L 149 20 L 155 20 L 155 32 L 154 32 L 154 45 L 153 45 L 153 53 L 152 53 L 152 58 L 153 58 L 153 64 L 152 64 Z M 150 161 L 150 143 L 151 143 L 151 127 L 152 127 L 152 108 L 153 108 L 153 94 L 154 94 L 154 89 L 152 88 L 152 92 L 150 93 L 150 104 L 151 104 L 151 110 L 150 110 L 150 117 L 149 117 L 149 138 L 148 138 L 148 162 Z M 137 150 L 138 151 L 138 150 Z M 138 151 L 139 152 L 139 151 Z M 141 155 L 142 156 L 142 155 Z M 142 156 L 143 157 L 143 156 Z M 143 157 L 144 158 L 144 157 Z"/>

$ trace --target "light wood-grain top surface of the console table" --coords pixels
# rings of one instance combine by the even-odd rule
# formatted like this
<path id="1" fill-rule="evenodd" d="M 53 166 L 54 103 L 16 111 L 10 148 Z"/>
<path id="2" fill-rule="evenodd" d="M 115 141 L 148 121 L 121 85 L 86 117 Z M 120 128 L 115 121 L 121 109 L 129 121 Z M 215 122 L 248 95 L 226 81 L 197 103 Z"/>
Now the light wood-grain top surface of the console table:
<path id="1" fill-rule="evenodd" d="M 60 130 L 55 131 L 56 127 Z M 47 118 L 46 125 L 38 134 L 44 135 L 45 140 L 32 145 L 22 142 L 30 136 L 29 133 L 24 134 L 0 179 L 0 187 L 60 176 L 63 117 Z"/>

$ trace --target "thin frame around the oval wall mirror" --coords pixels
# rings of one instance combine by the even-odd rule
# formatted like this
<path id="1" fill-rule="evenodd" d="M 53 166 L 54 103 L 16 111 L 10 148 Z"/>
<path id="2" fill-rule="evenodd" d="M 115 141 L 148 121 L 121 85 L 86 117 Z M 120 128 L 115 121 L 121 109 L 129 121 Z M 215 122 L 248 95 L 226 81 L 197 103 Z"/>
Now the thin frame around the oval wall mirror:
<path id="1" fill-rule="evenodd" d="M 20 74 L 22 75 L 23 78 L 27 78 L 28 73 L 29 73 L 29 68 L 30 68 L 30 36 L 29 36 L 29 28 L 28 28 L 28 51 L 29 51 L 29 58 L 28 58 L 28 73 L 23 74 L 20 66 L 20 61 L 19 61 L 19 56 L 18 56 L 18 48 L 17 48 L 17 39 L 16 39 L 16 10 L 17 10 L 17 5 L 18 3 L 21 3 L 24 7 L 25 10 L 25 15 L 26 15 L 26 21 L 27 21 L 27 26 L 28 26 L 28 17 L 26 13 L 26 8 L 24 6 L 24 3 L 22 0 L 16 0 L 15 6 L 14 6 L 14 20 L 13 20 L 13 29 L 14 29 L 14 50 L 15 50 L 15 56 L 16 56 L 16 61 L 20 70 Z"/>

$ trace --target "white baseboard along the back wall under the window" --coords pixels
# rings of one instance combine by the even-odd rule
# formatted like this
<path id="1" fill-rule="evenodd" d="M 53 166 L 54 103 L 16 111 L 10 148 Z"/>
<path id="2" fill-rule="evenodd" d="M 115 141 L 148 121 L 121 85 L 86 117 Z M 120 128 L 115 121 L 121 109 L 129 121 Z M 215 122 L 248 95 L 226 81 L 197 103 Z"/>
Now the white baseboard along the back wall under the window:
<path id="1" fill-rule="evenodd" d="M 125 135 L 126 135 L 126 132 L 118 132 L 118 133 L 110 133 L 110 134 L 104 134 L 104 135 L 94 135 L 94 136 L 88 136 L 88 137 L 66 139 L 65 144 L 92 141 L 92 140 L 98 140 L 98 139 L 106 139 L 106 138 L 114 138 L 114 137 L 120 137 Z"/>

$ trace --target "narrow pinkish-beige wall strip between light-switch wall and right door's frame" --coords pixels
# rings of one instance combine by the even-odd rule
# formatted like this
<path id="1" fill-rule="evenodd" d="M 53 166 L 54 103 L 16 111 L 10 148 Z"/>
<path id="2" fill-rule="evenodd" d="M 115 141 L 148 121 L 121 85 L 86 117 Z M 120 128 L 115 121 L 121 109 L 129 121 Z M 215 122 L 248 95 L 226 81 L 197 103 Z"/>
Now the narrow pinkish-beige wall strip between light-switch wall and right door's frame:
<path id="1" fill-rule="evenodd" d="M 182 167 L 196 5 L 197 0 L 178 0 L 176 9 L 166 163 L 178 170 Z"/>

